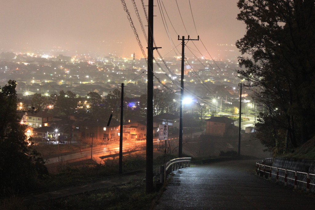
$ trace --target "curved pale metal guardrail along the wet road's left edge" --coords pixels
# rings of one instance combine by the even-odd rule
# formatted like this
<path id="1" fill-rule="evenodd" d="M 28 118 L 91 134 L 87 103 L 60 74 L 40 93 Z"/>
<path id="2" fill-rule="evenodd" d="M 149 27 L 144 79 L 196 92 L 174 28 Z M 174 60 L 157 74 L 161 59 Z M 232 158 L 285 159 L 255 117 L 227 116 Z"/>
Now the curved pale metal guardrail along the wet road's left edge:
<path id="1" fill-rule="evenodd" d="M 192 158 L 176 158 L 160 166 L 160 183 L 164 183 L 171 171 L 179 168 L 189 167 Z"/>

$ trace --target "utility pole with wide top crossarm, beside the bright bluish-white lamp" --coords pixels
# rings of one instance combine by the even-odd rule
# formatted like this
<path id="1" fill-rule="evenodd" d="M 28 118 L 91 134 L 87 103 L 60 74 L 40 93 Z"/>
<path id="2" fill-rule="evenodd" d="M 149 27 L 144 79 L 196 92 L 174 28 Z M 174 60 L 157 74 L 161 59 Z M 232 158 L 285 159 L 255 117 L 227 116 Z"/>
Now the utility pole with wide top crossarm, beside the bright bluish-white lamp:
<path id="1" fill-rule="evenodd" d="M 197 40 L 198 39 L 185 39 L 185 36 L 182 36 L 182 38 L 179 38 L 178 40 L 181 40 L 181 75 L 180 75 L 180 118 L 179 118 L 179 141 L 178 141 L 178 157 L 181 158 L 183 155 L 183 112 L 184 112 L 184 59 L 185 59 L 185 40 Z"/>

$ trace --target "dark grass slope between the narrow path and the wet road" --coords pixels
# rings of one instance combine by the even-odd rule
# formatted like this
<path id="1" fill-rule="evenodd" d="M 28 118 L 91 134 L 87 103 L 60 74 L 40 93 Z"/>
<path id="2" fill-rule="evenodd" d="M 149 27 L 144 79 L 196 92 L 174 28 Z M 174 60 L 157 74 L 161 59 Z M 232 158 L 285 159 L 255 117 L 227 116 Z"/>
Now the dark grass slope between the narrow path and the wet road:
<path id="1" fill-rule="evenodd" d="M 145 180 L 135 179 L 133 182 L 95 190 L 79 195 L 41 202 L 28 206 L 28 209 L 153 209 L 155 198 L 159 192 L 146 194 Z"/>

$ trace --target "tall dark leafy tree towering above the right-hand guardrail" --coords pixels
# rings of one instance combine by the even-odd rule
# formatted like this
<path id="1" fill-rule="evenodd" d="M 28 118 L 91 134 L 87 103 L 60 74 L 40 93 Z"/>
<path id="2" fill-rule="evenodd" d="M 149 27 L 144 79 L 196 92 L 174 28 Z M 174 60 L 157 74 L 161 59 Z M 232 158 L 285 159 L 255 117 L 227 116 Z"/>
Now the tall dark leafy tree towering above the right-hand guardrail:
<path id="1" fill-rule="evenodd" d="M 315 1 L 240 0 L 238 20 L 246 34 L 236 42 L 241 77 L 255 85 L 253 99 L 263 107 L 262 124 L 289 139 L 293 147 L 315 135 Z M 247 56 L 245 56 L 247 55 Z M 250 55 L 250 56 L 249 56 Z M 260 125 L 262 125 L 260 124 Z M 274 138 L 261 126 L 270 142 Z M 284 141 L 284 138 L 283 140 Z M 276 144 L 270 146 L 275 148 Z"/>

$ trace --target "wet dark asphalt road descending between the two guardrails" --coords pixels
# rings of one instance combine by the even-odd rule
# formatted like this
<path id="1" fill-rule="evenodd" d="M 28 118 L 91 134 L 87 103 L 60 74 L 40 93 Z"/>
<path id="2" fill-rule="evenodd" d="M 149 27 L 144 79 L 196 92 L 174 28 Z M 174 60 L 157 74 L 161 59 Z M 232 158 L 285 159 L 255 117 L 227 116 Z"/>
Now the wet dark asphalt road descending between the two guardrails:
<path id="1" fill-rule="evenodd" d="M 154 209 L 315 209 L 313 197 L 257 177 L 255 162 L 182 168 Z"/>

